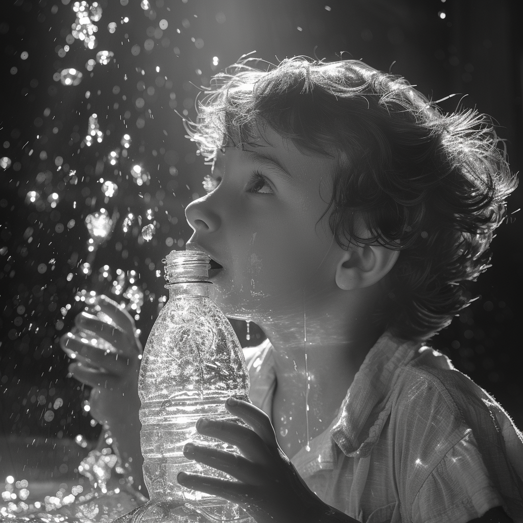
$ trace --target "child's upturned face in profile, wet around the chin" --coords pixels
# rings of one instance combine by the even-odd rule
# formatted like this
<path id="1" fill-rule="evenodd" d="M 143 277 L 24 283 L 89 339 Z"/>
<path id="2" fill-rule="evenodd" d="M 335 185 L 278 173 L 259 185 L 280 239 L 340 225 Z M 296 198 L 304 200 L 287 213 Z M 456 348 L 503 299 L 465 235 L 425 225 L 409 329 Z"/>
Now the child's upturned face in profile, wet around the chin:
<path id="1" fill-rule="evenodd" d="M 212 298 L 230 317 L 262 322 L 301 311 L 304 299 L 321 306 L 336 288 L 340 247 L 328 213 L 318 222 L 335 160 L 304 155 L 270 128 L 257 144 L 218 153 L 218 187 L 186 216 L 195 231 L 187 248 L 223 266 L 210 272 Z"/>

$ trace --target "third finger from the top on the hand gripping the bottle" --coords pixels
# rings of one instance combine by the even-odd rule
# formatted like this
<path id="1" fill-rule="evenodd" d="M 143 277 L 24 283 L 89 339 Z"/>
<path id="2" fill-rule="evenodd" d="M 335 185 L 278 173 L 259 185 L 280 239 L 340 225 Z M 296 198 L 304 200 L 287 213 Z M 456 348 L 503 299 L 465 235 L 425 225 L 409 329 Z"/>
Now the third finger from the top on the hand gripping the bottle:
<path id="1" fill-rule="evenodd" d="M 184 456 L 187 459 L 198 461 L 198 463 L 209 465 L 213 469 L 221 470 L 244 483 L 251 485 L 261 485 L 262 483 L 260 481 L 262 475 L 260 467 L 243 456 L 212 447 L 193 445 L 192 443 L 188 443 L 184 447 Z"/>

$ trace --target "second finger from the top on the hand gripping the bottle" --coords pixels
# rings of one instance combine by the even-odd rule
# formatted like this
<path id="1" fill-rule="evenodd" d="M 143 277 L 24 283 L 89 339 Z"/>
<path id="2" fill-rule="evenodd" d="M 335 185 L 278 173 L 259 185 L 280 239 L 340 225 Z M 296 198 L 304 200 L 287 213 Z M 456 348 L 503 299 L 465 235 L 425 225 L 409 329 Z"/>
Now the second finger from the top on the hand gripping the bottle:
<path id="1" fill-rule="evenodd" d="M 200 418 L 196 422 L 196 430 L 203 436 L 235 445 L 248 460 L 255 463 L 268 464 L 272 460 L 265 442 L 254 431 L 237 423 Z"/>

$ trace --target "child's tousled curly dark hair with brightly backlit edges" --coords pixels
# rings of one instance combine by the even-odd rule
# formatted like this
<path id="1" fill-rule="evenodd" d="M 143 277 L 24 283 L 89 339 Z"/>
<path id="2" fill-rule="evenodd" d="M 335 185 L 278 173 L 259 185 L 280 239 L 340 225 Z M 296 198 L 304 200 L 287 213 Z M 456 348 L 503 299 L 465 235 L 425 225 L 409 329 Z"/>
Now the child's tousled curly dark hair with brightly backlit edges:
<path id="1" fill-rule="evenodd" d="M 444 114 L 404 78 L 357 60 L 297 56 L 265 71 L 248 61 L 213 77 L 189 138 L 211 160 L 261 123 L 304 153 L 337 157 L 325 213 L 338 245 L 400 250 L 374 320 L 413 340 L 450 324 L 470 303 L 465 283 L 490 267 L 517 186 L 491 119 Z M 370 236 L 358 236 L 358 218 Z"/>

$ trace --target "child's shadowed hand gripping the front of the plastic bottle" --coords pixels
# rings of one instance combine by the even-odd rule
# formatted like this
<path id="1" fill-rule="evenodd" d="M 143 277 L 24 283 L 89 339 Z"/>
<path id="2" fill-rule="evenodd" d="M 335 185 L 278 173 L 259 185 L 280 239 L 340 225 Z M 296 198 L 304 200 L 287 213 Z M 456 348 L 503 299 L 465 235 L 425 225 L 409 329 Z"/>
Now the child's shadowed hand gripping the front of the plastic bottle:
<path id="1" fill-rule="evenodd" d="M 283 453 L 269 417 L 245 401 L 229 398 L 225 408 L 253 430 L 231 422 L 200 418 L 196 429 L 204 436 L 235 445 L 243 454 L 187 444 L 184 456 L 235 477 L 239 482 L 199 474 L 178 474 L 178 483 L 229 499 L 242 506 L 257 523 L 355 521 L 317 497 Z"/>

